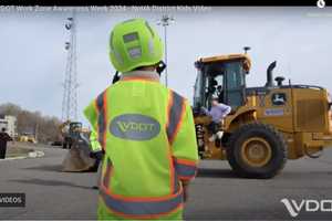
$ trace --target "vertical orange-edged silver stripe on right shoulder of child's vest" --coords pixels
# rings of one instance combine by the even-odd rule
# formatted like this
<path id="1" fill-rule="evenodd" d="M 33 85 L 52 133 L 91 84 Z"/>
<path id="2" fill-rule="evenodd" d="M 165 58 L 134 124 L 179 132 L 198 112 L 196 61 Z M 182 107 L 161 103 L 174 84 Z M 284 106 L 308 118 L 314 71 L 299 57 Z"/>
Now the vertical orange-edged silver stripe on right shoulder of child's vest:
<path id="1" fill-rule="evenodd" d="M 180 117 L 183 114 L 183 108 L 185 105 L 185 99 L 175 92 L 170 92 L 170 96 L 173 96 L 172 107 L 169 109 L 168 115 L 168 127 L 167 127 L 167 137 L 169 144 L 173 143 L 175 138 L 175 133 L 178 124 L 180 123 Z"/>

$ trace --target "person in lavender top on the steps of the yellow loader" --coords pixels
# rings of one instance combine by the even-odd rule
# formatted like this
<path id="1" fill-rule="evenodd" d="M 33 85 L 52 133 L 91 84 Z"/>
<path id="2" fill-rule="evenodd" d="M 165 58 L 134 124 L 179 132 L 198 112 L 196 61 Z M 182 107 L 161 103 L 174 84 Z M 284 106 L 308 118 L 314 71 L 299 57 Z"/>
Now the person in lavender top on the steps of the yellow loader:
<path id="1" fill-rule="evenodd" d="M 218 96 L 212 96 L 210 110 L 201 107 L 204 114 L 212 118 L 211 124 L 208 125 L 208 129 L 212 134 L 212 136 L 209 138 L 209 141 L 215 141 L 216 138 L 221 139 L 224 131 L 219 130 L 219 125 L 224 120 L 224 118 L 231 112 L 230 106 L 219 103 L 218 99 Z"/>

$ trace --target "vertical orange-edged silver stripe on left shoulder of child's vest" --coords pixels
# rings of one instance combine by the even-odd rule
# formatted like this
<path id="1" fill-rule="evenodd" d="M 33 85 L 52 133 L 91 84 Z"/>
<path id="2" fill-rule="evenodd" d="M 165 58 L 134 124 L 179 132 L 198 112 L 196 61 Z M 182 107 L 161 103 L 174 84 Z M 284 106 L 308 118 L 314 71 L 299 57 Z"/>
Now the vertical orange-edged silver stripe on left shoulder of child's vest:
<path id="1" fill-rule="evenodd" d="M 103 92 L 100 94 L 96 98 L 96 107 L 98 110 L 98 117 L 97 117 L 97 133 L 98 133 L 98 141 L 103 148 L 105 148 L 104 144 L 104 134 L 106 133 L 106 125 L 105 125 L 105 109 L 104 109 L 104 94 L 106 92 Z"/>

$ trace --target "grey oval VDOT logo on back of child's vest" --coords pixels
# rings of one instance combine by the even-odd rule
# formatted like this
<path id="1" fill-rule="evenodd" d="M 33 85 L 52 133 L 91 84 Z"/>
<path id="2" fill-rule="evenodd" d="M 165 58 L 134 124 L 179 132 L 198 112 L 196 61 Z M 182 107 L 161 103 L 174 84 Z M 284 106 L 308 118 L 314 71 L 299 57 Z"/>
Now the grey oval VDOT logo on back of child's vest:
<path id="1" fill-rule="evenodd" d="M 124 114 L 111 122 L 110 131 L 123 139 L 148 140 L 159 134 L 160 124 L 146 115 Z"/>

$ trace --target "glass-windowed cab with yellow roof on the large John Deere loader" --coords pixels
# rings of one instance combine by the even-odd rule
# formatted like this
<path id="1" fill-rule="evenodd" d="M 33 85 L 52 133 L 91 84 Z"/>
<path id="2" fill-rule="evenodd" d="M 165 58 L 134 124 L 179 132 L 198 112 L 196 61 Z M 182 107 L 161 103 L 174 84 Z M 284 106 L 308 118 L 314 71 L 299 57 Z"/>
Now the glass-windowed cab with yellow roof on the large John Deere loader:
<path id="1" fill-rule="evenodd" d="M 232 54 L 200 59 L 194 88 L 194 108 L 210 108 L 211 97 L 236 109 L 246 104 L 246 74 L 250 60 L 246 54 Z"/>

